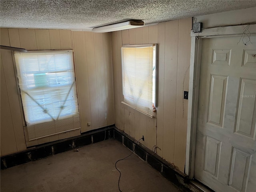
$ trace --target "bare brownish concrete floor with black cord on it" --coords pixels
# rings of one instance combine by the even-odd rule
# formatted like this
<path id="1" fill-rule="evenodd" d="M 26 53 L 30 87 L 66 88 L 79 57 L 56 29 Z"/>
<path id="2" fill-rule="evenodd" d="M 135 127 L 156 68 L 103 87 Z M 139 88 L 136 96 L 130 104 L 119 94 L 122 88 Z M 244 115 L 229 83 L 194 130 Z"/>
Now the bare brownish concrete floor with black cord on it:
<path id="1" fill-rule="evenodd" d="M 118 192 L 115 162 L 128 154 L 111 139 L 1 170 L 1 192 Z M 122 192 L 180 191 L 134 154 L 117 167 Z"/>

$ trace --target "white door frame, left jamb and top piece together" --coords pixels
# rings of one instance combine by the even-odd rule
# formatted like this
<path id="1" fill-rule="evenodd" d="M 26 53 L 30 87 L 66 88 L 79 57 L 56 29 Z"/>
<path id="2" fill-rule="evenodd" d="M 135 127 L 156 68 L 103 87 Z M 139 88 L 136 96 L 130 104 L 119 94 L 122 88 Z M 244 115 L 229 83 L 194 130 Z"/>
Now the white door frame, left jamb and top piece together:
<path id="1" fill-rule="evenodd" d="M 195 153 L 196 153 L 196 129 L 198 98 L 200 84 L 202 39 L 217 37 L 242 36 L 246 25 L 224 26 L 204 29 L 200 33 L 191 32 L 190 76 L 188 94 L 188 125 L 186 140 L 185 174 L 189 179 L 194 178 Z M 256 24 L 250 24 L 251 36 L 256 36 Z"/>

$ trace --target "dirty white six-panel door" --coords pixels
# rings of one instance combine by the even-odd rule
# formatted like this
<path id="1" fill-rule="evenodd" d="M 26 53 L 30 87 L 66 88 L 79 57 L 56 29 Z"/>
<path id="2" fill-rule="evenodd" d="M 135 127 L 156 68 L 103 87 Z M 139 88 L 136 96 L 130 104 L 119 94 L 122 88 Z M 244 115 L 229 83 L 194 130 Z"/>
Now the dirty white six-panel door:
<path id="1" fill-rule="evenodd" d="M 256 192 L 256 37 L 207 38 L 194 176 L 216 192 Z"/>

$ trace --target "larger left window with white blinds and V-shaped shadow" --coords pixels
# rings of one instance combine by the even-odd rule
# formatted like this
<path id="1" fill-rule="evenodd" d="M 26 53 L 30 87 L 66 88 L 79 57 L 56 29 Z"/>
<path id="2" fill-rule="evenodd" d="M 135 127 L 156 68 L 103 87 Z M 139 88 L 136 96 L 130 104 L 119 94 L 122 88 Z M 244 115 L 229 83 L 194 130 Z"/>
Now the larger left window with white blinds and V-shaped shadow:
<path id="1" fill-rule="evenodd" d="M 73 52 L 14 52 L 29 140 L 80 128 Z"/>

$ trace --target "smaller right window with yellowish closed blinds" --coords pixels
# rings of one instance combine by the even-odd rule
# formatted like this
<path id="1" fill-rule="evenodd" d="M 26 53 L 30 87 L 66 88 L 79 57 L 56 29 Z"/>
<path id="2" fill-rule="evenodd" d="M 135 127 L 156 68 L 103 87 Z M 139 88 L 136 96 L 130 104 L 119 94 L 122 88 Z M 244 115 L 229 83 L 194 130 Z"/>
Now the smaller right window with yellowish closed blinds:
<path id="1" fill-rule="evenodd" d="M 153 116 L 156 106 L 156 44 L 122 46 L 124 104 Z"/>

